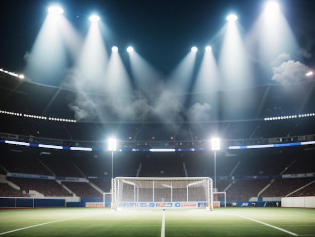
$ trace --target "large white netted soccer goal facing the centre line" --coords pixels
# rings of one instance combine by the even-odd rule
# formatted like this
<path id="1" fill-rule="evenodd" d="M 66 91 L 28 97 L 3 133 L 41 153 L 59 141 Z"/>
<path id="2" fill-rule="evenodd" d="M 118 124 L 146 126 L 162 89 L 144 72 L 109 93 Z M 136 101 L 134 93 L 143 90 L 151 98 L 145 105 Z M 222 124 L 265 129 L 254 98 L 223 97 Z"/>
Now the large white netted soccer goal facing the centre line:
<path id="1" fill-rule="evenodd" d="M 112 204 L 121 208 L 205 208 L 213 210 L 209 177 L 116 177 Z"/>

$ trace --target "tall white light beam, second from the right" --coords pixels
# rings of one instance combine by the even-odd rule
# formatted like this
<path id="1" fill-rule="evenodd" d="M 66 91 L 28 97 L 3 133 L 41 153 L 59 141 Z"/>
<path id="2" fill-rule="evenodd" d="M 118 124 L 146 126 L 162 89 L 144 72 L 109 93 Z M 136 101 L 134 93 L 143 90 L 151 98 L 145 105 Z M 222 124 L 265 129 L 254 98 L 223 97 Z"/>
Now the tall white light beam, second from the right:
<path id="1" fill-rule="evenodd" d="M 253 106 L 255 95 L 251 87 L 255 77 L 248 58 L 237 22 L 228 22 L 219 55 L 220 86 L 231 89 L 229 93 L 222 93 L 218 97 L 218 118 L 226 119 L 232 113 L 234 119 L 244 115 L 244 108 Z M 235 90 L 238 88 L 238 90 Z M 240 90 L 240 88 L 244 88 Z M 227 109 L 228 108 L 228 109 Z M 232 111 L 232 112 L 228 112 Z"/>

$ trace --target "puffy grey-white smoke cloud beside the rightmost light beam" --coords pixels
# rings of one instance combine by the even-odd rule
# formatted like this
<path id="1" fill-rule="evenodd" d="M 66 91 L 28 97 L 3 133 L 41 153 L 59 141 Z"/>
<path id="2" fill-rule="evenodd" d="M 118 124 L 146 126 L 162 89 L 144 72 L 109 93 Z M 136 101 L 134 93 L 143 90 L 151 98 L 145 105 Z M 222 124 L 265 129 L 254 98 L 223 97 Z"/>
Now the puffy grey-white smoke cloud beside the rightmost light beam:
<path id="1" fill-rule="evenodd" d="M 272 80 L 281 84 L 299 82 L 306 79 L 306 73 L 310 69 L 301 62 L 290 60 L 290 55 L 282 53 L 271 63 Z"/>

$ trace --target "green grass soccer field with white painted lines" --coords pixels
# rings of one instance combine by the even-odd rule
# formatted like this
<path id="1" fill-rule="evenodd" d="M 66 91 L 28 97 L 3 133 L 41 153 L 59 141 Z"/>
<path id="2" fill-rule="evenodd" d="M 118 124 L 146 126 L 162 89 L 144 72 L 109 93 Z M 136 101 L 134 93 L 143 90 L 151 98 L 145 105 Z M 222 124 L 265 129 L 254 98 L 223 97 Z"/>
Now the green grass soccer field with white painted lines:
<path id="1" fill-rule="evenodd" d="M 0 210 L 3 236 L 315 236 L 315 209 Z"/>

